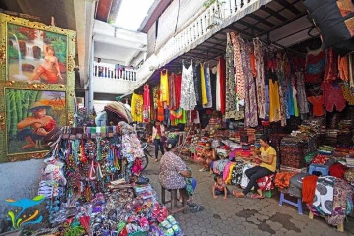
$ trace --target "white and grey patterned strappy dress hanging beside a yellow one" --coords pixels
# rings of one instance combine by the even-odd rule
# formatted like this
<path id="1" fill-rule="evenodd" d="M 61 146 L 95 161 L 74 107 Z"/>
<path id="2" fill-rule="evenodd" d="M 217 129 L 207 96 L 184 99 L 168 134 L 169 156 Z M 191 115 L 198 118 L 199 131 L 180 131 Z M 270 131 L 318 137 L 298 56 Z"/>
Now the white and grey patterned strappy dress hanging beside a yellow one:
<path id="1" fill-rule="evenodd" d="M 184 60 L 182 61 L 182 85 L 181 85 L 181 102 L 180 107 L 184 110 L 194 110 L 197 105 L 194 83 L 193 83 L 193 67 L 192 63 L 188 69 L 184 66 Z"/>

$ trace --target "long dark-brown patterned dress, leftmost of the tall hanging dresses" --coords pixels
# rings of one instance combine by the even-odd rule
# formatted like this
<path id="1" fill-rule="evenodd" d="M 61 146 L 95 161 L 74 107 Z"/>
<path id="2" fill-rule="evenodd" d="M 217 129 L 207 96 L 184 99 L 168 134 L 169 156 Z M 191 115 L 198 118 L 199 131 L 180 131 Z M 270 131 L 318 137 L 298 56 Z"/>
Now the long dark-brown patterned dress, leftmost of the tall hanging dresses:
<path id="1" fill-rule="evenodd" d="M 237 111 L 237 95 L 236 95 L 236 87 L 235 87 L 235 75 L 234 75 L 234 48 L 231 43 L 230 34 L 227 34 L 226 39 L 226 93 L 225 93 L 225 118 L 226 119 L 243 119 L 244 111 L 243 107 L 239 107 Z M 220 77 L 221 78 L 221 77 Z"/>

